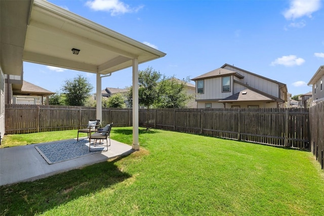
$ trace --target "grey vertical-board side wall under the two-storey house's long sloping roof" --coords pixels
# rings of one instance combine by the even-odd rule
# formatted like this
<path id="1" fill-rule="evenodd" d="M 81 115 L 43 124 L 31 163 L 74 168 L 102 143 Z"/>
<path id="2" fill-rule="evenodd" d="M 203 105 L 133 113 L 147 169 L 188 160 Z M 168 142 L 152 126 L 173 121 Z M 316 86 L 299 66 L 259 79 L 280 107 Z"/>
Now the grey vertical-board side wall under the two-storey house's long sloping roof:
<path id="1" fill-rule="evenodd" d="M 278 83 L 264 79 L 262 77 L 256 76 L 251 73 L 247 73 L 245 71 L 237 70 L 237 69 L 229 67 L 229 66 L 225 66 L 224 68 L 231 70 L 231 71 L 235 71 L 235 72 L 241 74 L 242 76 L 244 76 L 244 78 L 242 78 L 242 79 L 235 78 L 235 80 L 237 80 L 241 83 L 244 83 L 244 84 L 248 84 L 252 88 L 255 88 L 255 89 L 260 90 L 264 93 L 267 93 L 267 94 L 272 95 L 276 98 L 279 98 L 279 84 Z M 235 94 L 235 93 L 237 93 L 237 92 L 234 92 L 233 94 Z"/>

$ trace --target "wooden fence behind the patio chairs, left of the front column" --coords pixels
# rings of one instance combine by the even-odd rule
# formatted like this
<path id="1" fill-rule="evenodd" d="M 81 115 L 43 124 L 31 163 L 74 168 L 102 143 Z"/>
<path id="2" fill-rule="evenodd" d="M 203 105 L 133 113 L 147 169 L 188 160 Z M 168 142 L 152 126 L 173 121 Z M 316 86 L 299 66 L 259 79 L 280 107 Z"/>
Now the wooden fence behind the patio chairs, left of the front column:
<path id="1" fill-rule="evenodd" d="M 96 119 L 95 107 L 6 104 L 5 112 L 6 134 L 76 129 Z M 103 122 L 115 126 L 132 126 L 132 115 L 131 109 L 102 109 Z"/>

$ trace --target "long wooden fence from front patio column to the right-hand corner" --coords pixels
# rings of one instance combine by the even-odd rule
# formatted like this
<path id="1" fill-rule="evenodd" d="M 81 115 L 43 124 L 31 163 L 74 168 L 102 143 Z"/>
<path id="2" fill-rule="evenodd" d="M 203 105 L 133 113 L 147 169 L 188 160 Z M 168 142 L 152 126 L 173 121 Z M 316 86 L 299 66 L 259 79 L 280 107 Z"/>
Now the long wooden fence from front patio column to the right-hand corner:
<path id="1" fill-rule="evenodd" d="M 140 125 L 253 143 L 309 149 L 308 109 L 140 110 Z M 147 123 L 148 119 L 148 123 Z"/>

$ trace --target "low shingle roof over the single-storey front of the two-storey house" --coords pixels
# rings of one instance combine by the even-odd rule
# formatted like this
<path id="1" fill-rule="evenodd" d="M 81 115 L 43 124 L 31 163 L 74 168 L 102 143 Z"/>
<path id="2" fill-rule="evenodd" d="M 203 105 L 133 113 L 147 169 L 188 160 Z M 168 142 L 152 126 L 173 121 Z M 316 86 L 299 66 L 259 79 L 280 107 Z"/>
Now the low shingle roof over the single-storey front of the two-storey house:
<path id="1" fill-rule="evenodd" d="M 218 102 L 244 102 L 244 101 L 272 102 L 274 100 L 269 97 L 266 97 L 265 95 L 254 92 L 250 89 L 245 89 L 245 90 L 240 91 L 239 93 L 231 95 L 231 96 L 224 98 L 223 100 L 220 100 Z"/>

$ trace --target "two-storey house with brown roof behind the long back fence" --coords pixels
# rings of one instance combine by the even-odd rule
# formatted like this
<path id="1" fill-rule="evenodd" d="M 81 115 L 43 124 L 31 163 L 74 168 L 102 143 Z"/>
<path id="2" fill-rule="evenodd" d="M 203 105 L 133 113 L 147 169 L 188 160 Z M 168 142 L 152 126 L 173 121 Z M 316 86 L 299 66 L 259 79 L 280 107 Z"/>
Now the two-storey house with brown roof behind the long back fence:
<path id="1" fill-rule="evenodd" d="M 276 108 L 288 101 L 286 84 L 229 64 L 191 80 L 197 108 Z"/>

